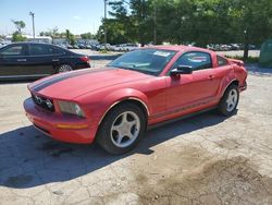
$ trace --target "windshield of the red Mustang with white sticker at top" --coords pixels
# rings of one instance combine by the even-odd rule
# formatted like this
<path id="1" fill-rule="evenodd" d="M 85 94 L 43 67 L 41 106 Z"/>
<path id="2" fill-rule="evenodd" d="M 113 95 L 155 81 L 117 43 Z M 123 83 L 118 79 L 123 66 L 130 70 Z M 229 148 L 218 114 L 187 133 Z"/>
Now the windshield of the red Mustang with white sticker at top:
<path id="1" fill-rule="evenodd" d="M 159 75 L 175 53 L 172 50 L 140 49 L 121 56 L 108 67 Z"/>

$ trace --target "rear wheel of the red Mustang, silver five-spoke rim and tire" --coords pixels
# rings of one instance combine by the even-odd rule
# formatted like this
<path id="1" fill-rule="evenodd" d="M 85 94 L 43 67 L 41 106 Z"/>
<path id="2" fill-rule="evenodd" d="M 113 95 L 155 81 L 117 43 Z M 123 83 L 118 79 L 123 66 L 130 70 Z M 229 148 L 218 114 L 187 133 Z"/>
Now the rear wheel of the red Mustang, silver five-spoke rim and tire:
<path id="1" fill-rule="evenodd" d="M 239 101 L 238 87 L 236 85 L 231 85 L 230 87 L 227 87 L 223 98 L 220 101 L 219 112 L 226 117 L 232 116 L 236 110 L 238 101 Z"/>

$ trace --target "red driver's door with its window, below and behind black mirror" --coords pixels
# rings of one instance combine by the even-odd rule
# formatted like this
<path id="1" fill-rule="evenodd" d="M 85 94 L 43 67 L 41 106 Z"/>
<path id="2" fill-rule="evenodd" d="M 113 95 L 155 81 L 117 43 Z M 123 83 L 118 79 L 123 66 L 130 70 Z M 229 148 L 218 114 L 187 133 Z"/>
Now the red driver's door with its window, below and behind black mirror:
<path id="1" fill-rule="evenodd" d="M 168 111 L 186 111 L 215 97 L 219 83 L 214 81 L 210 53 L 202 51 L 183 53 L 172 69 L 178 65 L 191 67 L 193 73 L 168 77 Z"/>

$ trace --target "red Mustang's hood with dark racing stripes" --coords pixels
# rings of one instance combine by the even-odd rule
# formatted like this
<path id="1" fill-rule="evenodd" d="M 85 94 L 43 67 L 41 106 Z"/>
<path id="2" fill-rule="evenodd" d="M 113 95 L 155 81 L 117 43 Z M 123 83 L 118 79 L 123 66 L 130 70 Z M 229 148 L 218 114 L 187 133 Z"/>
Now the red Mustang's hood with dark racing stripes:
<path id="1" fill-rule="evenodd" d="M 33 93 L 51 98 L 73 99 L 100 88 L 147 77 L 151 76 L 123 69 L 85 69 L 39 80 L 32 83 L 28 88 Z"/>

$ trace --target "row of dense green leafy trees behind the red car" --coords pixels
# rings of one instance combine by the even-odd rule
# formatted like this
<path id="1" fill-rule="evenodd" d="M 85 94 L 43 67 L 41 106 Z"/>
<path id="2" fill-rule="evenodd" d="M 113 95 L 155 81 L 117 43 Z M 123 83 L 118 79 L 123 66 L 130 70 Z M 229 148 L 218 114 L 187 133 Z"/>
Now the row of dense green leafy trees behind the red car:
<path id="1" fill-rule="evenodd" d="M 108 0 L 110 19 L 97 37 L 110 44 L 137 41 L 260 45 L 272 37 L 271 0 Z"/>

